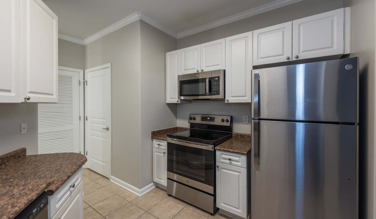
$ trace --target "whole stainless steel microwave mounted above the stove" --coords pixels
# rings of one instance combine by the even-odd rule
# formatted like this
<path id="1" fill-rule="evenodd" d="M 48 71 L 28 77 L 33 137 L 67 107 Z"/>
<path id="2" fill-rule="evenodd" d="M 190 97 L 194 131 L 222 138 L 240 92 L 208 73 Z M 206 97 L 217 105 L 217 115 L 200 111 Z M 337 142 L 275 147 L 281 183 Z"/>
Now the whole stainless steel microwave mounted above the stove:
<path id="1" fill-rule="evenodd" d="M 178 76 L 180 100 L 223 100 L 224 70 L 203 71 Z"/>

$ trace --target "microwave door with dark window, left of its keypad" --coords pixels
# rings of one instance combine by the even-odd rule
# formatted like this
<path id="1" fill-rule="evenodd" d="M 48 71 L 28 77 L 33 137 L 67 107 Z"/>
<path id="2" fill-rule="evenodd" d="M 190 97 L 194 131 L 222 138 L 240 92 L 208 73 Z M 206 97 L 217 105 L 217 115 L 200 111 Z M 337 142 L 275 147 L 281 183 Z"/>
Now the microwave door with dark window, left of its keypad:
<path id="1" fill-rule="evenodd" d="M 210 99 L 211 71 L 182 74 L 179 79 L 179 99 Z"/>

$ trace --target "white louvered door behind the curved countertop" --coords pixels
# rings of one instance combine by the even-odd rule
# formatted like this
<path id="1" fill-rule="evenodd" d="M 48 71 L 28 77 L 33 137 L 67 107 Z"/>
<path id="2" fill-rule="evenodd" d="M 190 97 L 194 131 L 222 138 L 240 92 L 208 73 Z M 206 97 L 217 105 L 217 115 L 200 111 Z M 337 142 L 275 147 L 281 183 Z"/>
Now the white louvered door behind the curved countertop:
<path id="1" fill-rule="evenodd" d="M 79 152 L 79 74 L 59 69 L 58 103 L 38 104 L 38 154 Z"/>

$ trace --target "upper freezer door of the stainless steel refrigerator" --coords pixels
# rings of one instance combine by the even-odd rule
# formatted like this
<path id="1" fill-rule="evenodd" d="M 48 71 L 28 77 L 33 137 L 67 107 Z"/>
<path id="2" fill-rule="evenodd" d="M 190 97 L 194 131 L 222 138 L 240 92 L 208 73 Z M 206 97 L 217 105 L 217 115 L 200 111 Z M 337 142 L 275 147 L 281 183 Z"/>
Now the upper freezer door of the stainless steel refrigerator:
<path id="1" fill-rule="evenodd" d="M 358 57 L 252 74 L 253 118 L 358 123 Z"/>

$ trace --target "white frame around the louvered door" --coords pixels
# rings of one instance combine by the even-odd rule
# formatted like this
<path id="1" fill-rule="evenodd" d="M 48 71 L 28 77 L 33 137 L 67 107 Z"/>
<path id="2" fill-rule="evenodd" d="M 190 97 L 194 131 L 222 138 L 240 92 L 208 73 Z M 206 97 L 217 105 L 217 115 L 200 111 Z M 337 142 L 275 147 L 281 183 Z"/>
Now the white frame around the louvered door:
<path id="1" fill-rule="evenodd" d="M 72 72 L 77 72 L 79 74 L 79 91 L 80 91 L 80 94 L 79 94 L 79 97 L 80 97 L 80 153 L 81 154 L 85 154 L 85 151 L 84 151 L 84 148 L 83 148 L 83 140 L 84 140 L 84 129 L 83 129 L 83 115 L 84 115 L 84 106 L 83 106 L 83 69 L 77 69 L 77 68 L 68 68 L 68 67 L 64 67 L 64 66 L 58 66 L 58 70 L 64 70 L 64 71 L 72 71 Z"/>

